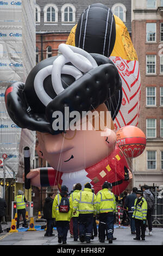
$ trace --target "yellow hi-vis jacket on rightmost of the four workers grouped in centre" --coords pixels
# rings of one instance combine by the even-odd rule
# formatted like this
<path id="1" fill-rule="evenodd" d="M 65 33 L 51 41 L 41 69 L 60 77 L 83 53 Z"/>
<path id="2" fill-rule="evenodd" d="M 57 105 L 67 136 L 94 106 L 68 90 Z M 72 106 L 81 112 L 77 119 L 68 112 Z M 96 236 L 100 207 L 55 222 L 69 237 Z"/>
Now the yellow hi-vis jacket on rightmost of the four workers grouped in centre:
<path id="1" fill-rule="evenodd" d="M 102 212 L 115 212 L 116 202 L 114 193 L 104 188 L 97 194 L 97 214 Z"/>

